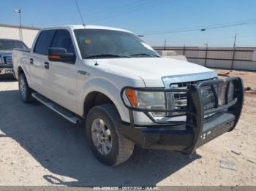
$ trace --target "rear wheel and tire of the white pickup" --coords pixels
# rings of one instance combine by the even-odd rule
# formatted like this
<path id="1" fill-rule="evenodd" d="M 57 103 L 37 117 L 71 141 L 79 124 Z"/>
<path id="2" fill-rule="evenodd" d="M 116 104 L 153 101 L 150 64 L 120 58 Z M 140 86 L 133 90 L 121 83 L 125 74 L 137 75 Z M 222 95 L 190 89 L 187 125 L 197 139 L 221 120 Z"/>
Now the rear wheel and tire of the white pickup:
<path id="1" fill-rule="evenodd" d="M 20 98 L 24 103 L 30 103 L 34 101 L 31 93 L 32 90 L 26 81 L 25 74 L 21 73 L 18 78 Z"/>

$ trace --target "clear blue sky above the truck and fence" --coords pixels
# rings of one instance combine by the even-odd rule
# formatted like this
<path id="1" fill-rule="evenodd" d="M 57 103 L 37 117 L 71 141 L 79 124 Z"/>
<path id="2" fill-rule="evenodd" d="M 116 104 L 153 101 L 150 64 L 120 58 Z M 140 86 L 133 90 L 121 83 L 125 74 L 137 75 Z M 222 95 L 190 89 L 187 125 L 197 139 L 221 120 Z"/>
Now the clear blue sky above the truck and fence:
<path id="1" fill-rule="evenodd" d="M 88 25 L 124 28 L 144 34 L 151 46 L 256 47 L 256 22 L 243 26 L 212 28 L 256 21 L 256 0 L 77 0 Z M 23 26 L 81 24 L 75 0 L 1 0 L 0 23 L 19 25 L 14 9 L 22 10 Z M 187 31 L 189 28 L 198 29 Z M 156 31 L 178 31 L 154 34 Z M 181 32 L 183 31 L 183 32 Z"/>

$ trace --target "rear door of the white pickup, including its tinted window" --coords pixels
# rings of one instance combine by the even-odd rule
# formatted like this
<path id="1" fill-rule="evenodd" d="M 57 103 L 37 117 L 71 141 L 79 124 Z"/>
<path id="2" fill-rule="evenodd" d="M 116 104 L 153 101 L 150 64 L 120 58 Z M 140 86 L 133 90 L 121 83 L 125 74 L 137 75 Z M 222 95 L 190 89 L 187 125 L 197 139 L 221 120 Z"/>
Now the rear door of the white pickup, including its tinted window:
<path id="1" fill-rule="evenodd" d="M 56 30 L 41 31 L 34 45 L 34 50 L 29 57 L 31 87 L 48 98 L 50 98 L 51 94 L 49 86 L 50 76 L 48 69 L 45 69 L 45 64 L 48 63 L 48 48 L 52 44 L 55 34 Z"/>

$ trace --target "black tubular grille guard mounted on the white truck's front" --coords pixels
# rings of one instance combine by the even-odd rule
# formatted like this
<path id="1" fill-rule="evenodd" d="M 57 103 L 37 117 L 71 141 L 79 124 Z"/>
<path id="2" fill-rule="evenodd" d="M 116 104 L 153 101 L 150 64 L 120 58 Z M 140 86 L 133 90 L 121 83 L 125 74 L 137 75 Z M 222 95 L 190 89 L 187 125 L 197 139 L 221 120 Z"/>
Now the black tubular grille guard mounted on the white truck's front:
<path id="1" fill-rule="evenodd" d="M 233 100 L 228 101 L 228 88 L 230 86 L 230 82 L 233 82 L 234 92 L 233 92 Z M 214 85 L 218 85 L 219 83 L 226 83 L 225 90 L 225 104 L 219 106 L 218 104 L 218 95 L 214 88 Z M 215 106 L 213 109 L 204 110 L 203 107 L 203 96 L 202 96 L 202 88 L 206 86 L 211 86 L 211 90 L 214 94 Z M 124 101 L 126 88 L 130 88 L 132 90 L 140 90 L 140 91 L 151 91 L 151 92 L 165 92 L 165 93 L 175 93 L 175 92 L 186 92 L 187 93 L 187 109 L 140 109 L 134 108 L 132 106 L 127 105 L 126 101 Z M 133 111 L 143 112 L 148 116 L 154 123 L 161 126 L 179 126 L 185 125 L 186 128 L 192 129 L 194 134 L 193 143 L 191 147 L 187 148 L 187 153 L 191 153 L 195 151 L 196 147 L 200 144 L 200 136 L 203 136 L 203 127 L 206 119 L 204 116 L 206 114 L 217 114 L 219 112 L 228 112 L 235 116 L 235 120 L 233 121 L 232 127 L 228 130 L 233 130 L 235 128 L 238 119 L 241 114 L 241 109 L 244 103 L 244 85 L 239 77 L 227 77 L 225 79 L 213 79 L 207 80 L 203 82 L 199 82 L 197 85 L 190 85 L 186 89 L 165 89 L 165 88 L 151 88 L 151 87 L 124 87 L 121 90 L 121 99 L 124 102 L 124 105 L 129 109 L 129 119 L 131 128 L 135 128 L 135 122 L 133 117 Z M 150 114 L 150 112 L 176 112 L 182 113 L 187 116 L 187 120 L 185 121 L 157 121 Z M 141 126 L 141 125 L 140 125 Z"/>

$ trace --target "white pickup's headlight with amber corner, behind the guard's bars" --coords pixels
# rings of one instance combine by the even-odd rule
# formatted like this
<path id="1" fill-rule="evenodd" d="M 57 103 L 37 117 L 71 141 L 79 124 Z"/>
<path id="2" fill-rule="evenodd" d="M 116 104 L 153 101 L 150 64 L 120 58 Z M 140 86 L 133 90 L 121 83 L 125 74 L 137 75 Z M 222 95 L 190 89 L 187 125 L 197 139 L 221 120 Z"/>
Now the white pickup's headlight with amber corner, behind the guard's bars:
<path id="1" fill-rule="evenodd" d="M 164 92 L 146 92 L 127 88 L 126 95 L 132 107 L 138 109 L 166 109 Z M 165 116 L 165 112 L 152 112 L 154 116 Z"/>

